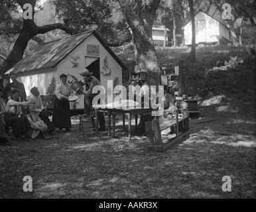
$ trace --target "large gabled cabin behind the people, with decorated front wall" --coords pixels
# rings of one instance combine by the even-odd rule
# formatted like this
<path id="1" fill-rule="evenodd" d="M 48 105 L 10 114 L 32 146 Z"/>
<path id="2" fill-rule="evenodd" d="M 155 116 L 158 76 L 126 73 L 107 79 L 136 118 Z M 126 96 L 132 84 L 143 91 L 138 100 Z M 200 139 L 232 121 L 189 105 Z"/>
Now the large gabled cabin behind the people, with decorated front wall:
<path id="1" fill-rule="evenodd" d="M 30 89 L 34 86 L 38 87 L 41 95 L 46 95 L 52 78 L 60 83 L 60 74 L 70 74 L 80 80 L 82 76 L 79 73 L 84 68 L 94 72 L 105 88 L 109 79 L 113 80 L 114 86 L 121 85 L 122 71 L 127 69 L 93 30 L 39 44 L 30 56 L 23 58 L 5 74 L 17 73 L 27 95 L 31 95 Z M 76 109 L 83 108 L 84 96 L 81 95 Z"/>

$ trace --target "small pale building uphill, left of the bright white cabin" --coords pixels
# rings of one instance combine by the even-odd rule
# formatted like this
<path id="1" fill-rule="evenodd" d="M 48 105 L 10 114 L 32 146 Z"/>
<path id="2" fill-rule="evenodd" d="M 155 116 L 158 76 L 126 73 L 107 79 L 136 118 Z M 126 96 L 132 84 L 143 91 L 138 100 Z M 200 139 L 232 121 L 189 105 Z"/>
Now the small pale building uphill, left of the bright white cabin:
<path id="1" fill-rule="evenodd" d="M 154 41 L 154 44 L 156 46 L 164 46 L 164 36 L 166 37 L 166 46 L 168 43 L 168 36 L 167 33 L 170 30 L 166 28 L 164 25 L 153 25 L 152 28 L 152 38 Z"/>

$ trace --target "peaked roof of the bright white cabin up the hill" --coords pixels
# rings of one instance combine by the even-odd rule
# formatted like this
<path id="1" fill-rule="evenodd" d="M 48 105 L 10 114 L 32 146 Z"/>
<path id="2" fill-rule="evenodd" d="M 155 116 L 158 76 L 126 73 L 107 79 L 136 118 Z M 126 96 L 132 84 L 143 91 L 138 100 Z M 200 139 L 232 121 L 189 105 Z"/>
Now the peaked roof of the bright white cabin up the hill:
<path id="1" fill-rule="evenodd" d="M 206 6 L 200 6 L 196 9 L 194 16 L 198 15 L 198 13 L 200 12 L 206 13 L 206 15 L 209 15 L 210 17 L 212 17 L 213 19 L 215 19 L 225 27 L 229 28 L 229 26 L 227 26 L 227 23 L 225 23 L 224 19 L 222 19 L 222 13 L 220 13 L 216 5 L 211 5 L 209 8 L 207 8 Z M 191 21 L 191 18 L 185 23 L 184 26 L 190 23 L 190 21 Z"/>

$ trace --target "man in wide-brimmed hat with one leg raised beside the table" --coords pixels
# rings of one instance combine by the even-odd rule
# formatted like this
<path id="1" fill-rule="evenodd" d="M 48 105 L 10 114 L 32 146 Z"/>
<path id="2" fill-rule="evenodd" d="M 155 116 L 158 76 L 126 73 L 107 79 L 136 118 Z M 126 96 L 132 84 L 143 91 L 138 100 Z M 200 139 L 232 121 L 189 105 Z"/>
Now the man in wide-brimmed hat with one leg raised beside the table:
<path id="1" fill-rule="evenodd" d="M 92 90 L 96 85 L 100 85 L 99 80 L 92 76 L 93 72 L 89 72 L 88 69 L 84 69 L 80 75 L 84 78 L 83 85 L 86 85 L 86 91 L 83 92 L 84 94 L 84 113 L 86 115 L 90 115 L 92 111 L 92 101 L 94 97 L 97 95 L 96 93 L 92 93 Z M 104 113 L 99 112 L 99 130 L 98 131 L 105 131 L 105 117 Z"/>

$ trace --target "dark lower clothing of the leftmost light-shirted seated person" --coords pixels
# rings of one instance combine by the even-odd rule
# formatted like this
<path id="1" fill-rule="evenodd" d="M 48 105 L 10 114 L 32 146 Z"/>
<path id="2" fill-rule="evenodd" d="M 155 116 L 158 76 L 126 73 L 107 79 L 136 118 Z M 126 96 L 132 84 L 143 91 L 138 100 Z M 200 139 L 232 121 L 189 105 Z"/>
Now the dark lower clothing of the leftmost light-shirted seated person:
<path id="1" fill-rule="evenodd" d="M 4 121 L 8 127 L 12 127 L 13 134 L 15 136 L 19 136 L 20 134 L 24 134 L 28 129 L 31 128 L 29 124 L 29 120 L 26 116 L 18 117 L 13 113 L 5 113 Z"/>

